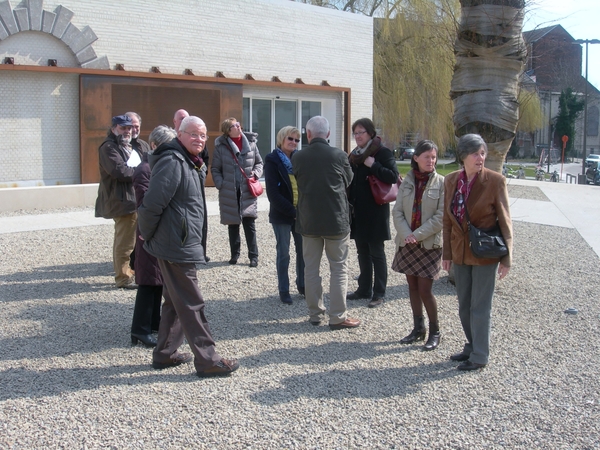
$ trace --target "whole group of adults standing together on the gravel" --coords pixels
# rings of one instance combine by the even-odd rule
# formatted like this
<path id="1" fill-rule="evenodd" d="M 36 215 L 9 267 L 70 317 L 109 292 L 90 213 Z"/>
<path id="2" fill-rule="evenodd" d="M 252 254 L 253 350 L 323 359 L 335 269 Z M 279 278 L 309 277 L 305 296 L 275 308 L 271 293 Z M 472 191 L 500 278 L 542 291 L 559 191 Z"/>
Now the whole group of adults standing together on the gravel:
<path id="1" fill-rule="evenodd" d="M 202 119 L 184 110 L 175 113 L 173 123 L 174 129 L 155 128 L 146 144 L 138 138 L 139 115 L 129 112 L 113 117 L 99 149 L 96 215 L 115 222 L 117 287 L 138 289 L 132 343 L 154 347 L 156 369 L 193 360 L 198 376 L 228 375 L 239 363 L 216 352 L 196 274 L 197 264 L 210 260 L 204 192 L 207 129 Z M 235 118 L 224 120 L 221 132 L 210 170 L 219 191 L 221 223 L 229 229 L 229 263 L 236 264 L 240 257 L 241 224 L 250 267 L 257 267 L 258 208 L 250 188 L 250 181 L 263 174 L 257 136 L 245 133 Z M 293 238 L 295 284 L 306 298 L 309 322 L 315 326 L 328 322 L 331 329 L 360 325 L 358 319 L 348 317 L 347 300 L 368 299 L 371 308 L 384 302 L 390 205 L 375 200 L 369 178 L 390 185 L 399 178 L 393 153 L 383 145 L 370 119 L 356 121 L 352 132 L 357 147 L 347 155 L 329 144 L 327 119 L 315 116 L 306 124 L 308 146 L 299 151 L 300 130 L 283 127 L 276 148 L 264 161 L 280 300 L 293 303 L 288 274 Z M 450 270 L 453 263 L 467 343 L 451 359 L 462 362 L 461 370 L 478 369 L 488 362 L 495 273 L 500 278 L 508 273 L 512 253 L 506 183 L 501 175 L 483 167 L 486 155 L 487 146 L 480 136 L 463 136 L 458 144 L 463 168 L 444 180 L 435 171 L 436 145 L 421 141 L 393 208 L 397 251 L 392 269 L 407 277 L 414 317 L 413 330 L 401 342 L 425 340 L 424 306 L 429 335 L 423 349 L 438 347 L 441 333 L 432 284 L 441 268 Z M 500 260 L 473 256 L 464 217 L 467 207 L 474 225 L 499 224 L 510 249 L 507 256 Z M 358 288 L 352 293 L 347 292 L 350 239 L 356 243 L 360 268 Z M 130 267 L 134 248 L 135 272 Z M 320 274 L 323 251 L 330 268 L 328 314 Z M 162 311 L 161 297 L 165 299 Z M 157 338 L 154 331 L 158 331 Z M 179 352 L 184 337 L 193 355 Z"/>

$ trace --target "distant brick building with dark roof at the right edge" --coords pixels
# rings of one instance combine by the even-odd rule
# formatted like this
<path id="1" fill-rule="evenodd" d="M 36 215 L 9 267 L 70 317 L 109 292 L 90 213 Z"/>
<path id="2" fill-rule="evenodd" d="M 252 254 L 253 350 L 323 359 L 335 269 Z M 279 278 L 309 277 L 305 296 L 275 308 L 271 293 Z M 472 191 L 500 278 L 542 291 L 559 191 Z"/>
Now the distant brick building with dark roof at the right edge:
<path id="1" fill-rule="evenodd" d="M 545 125 L 538 130 L 533 143 L 520 133 L 517 143 L 520 147 L 534 145 L 539 154 L 540 148 L 547 148 L 550 139 L 550 118 L 558 114 L 558 100 L 561 91 L 570 87 L 583 98 L 585 77 L 582 73 L 581 45 L 560 25 L 539 28 L 523 33 L 528 48 L 524 79 L 535 83 L 542 103 Z M 585 70 L 585 68 L 583 68 Z M 585 74 L 584 74 L 585 75 Z M 586 154 L 600 153 L 600 136 L 598 133 L 600 114 L 600 91 L 588 83 L 588 124 Z M 575 125 L 574 149 L 581 154 L 583 149 L 583 113 Z M 560 147 L 560 136 L 554 136 L 555 147 Z M 529 144 L 529 145 L 526 145 Z M 533 151 L 533 148 L 532 148 Z"/>

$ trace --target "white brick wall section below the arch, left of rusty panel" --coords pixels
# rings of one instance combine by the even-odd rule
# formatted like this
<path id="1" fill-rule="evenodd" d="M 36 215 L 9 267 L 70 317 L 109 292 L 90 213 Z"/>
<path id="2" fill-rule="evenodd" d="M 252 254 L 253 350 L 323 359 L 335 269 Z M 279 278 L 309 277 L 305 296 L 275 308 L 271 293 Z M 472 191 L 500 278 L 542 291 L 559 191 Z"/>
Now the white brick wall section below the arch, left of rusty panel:
<path id="1" fill-rule="evenodd" d="M 79 183 L 78 75 L 0 72 L 0 188 Z"/>

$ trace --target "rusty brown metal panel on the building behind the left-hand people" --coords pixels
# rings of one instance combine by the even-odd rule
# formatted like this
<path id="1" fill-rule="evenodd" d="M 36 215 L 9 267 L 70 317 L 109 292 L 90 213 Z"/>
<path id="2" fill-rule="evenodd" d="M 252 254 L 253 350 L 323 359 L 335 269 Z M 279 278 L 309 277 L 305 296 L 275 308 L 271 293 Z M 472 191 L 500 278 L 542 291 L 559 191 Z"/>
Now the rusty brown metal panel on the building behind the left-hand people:
<path id="1" fill-rule="evenodd" d="M 135 111 L 142 117 L 140 137 L 147 140 L 161 124 L 173 126 L 173 115 L 185 109 L 201 117 L 214 140 L 223 119 L 242 115 L 242 84 L 82 75 L 80 80 L 81 182 L 99 181 L 98 147 L 106 137 L 112 116 Z M 212 177 L 207 179 L 212 186 Z"/>

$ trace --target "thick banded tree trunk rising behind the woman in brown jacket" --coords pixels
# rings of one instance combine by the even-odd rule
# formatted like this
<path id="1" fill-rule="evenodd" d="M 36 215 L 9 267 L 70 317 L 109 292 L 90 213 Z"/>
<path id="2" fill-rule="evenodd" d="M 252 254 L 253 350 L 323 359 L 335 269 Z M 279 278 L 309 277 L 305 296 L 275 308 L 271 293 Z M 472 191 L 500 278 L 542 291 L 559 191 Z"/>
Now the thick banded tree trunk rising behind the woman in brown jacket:
<path id="1" fill-rule="evenodd" d="M 502 171 L 519 120 L 519 75 L 526 59 L 525 0 L 460 0 L 452 79 L 454 131 L 478 133 L 486 167 Z"/>

